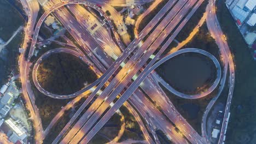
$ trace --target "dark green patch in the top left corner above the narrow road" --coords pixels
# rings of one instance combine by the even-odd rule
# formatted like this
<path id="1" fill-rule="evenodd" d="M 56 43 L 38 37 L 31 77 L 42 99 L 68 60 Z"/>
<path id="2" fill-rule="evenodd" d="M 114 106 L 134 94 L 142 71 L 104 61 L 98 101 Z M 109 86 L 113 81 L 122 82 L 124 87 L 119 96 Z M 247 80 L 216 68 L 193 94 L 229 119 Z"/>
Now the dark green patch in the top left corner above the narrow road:
<path id="1" fill-rule="evenodd" d="M 0 1 L 0 38 L 7 41 L 25 21 L 7 1 Z"/>

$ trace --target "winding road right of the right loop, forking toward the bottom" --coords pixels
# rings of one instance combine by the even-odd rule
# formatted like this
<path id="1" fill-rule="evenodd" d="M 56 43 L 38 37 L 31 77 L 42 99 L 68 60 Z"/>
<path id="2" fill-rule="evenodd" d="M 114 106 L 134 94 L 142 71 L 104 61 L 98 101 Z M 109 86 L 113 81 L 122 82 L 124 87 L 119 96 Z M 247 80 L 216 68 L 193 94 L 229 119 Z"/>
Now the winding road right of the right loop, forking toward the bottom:
<path id="1" fill-rule="evenodd" d="M 219 46 L 220 52 L 222 52 L 222 56 L 223 56 L 223 61 L 224 61 L 224 78 L 222 80 L 222 89 L 224 88 L 224 84 L 225 84 L 225 77 L 226 77 L 226 69 L 228 69 L 228 65 L 229 65 L 229 93 L 228 93 L 228 100 L 225 106 L 225 113 L 224 113 L 224 120 L 222 123 L 222 129 L 220 130 L 220 137 L 219 137 L 219 141 L 218 143 L 222 144 L 224 142 L 224 135 L 225 135 L 225 129 L 226 127 L 228 127 L 228 121 L 227 117 L 228 117 L 228 113 L 230 110 L 230 105 L 231 105 L 231 100 L 232 100 L 232 95 L 234 92 L 234 85 L 235 85 L 235 67 L 234 67 L 234 62 L 231 56 L 231 52 L 230 52 L 230 48 L 228 46 L 228 43 L 224 40 L 223 38 L 223 32 L 222 29 L 220 28 L 217 16 L 216 16 L 216 9 L 215 9 L 215 0 L 211 0 L 210 3 L 207 6 L 207 27 L 212 35 L 212 37 L 216 40 L 217 45 Z M 209 12 L 209 11 L 212 11 Z M 206 137 L 207 141 L 208 141 L 208 137 L 207 137 L 207 133 L 206 133 L 206 119 L 208 116 L 208 113 L 210 112 L 213 104 L 216 102 L 216 100 L 218 99 L 220 93 L 222 92 L 222 90 L 218 93 L 217 97 L 212 99 L 212 101 L 210 102 L 210 104 L 207 106 L 206 111 L 203 115 L 203 119 L 202 119 L 202 135 L 204 137 Z"/>

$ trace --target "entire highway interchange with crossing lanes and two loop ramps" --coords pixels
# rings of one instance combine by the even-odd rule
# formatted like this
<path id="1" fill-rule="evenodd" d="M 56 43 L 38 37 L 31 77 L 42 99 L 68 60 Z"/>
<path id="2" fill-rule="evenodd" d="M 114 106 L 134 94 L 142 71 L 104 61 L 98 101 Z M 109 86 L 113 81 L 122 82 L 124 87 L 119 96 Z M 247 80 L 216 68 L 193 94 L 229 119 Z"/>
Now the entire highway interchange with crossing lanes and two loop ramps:
<path id="1" fill-rule="evenodd" d="M 168 139 L 174 143 L 210 143 L 209 135 L 206 133 L 207 115 L 222 92 L 226 79 L 229 79 L 229 95 L 225 106 L 224 120 L 218 143 L 222 144 L 224 142 L 225 129 L 228 125 L 227 117 L 234 91 L 235 69 L 229 46 L 222 37 L 223 32 L 214 12 L 215 1 L 211 0 L 207 5 L 206 22 L 212 37 L 216 40 L 219 47 L 220 55 L 223 57 L 223 69 L 211 53 L 196 48 L 176 50 L 164 58 L 161 57 L 162 53 L 200 7 L 203 0 L 168 1 L 141 32 L 135 31 L 137 33 L 136 38 L 132 41 L 129 40 L 127 32 L 120 33 L 119 28 L 115 28 L 116 25 L 120 25 L 120 27 L 125 26 L 120 14 L 112 6 L 127 7 L 149 2 L 152 1 L 49 0 L 46 4 L 42 5 L 45 12 L 36 21 L 39 10 L 37 1 L 21 0 L 23 7 L 27 8 L 26 14 L 29 15 L 25 29 L 24 45 L 22 47 L 27 49 L 29 53 L 27 59 L 25 58 L 25 53 L 22 53 L 20 56 L 20 75 L 22 87 L 24 87 L 22 91 L 26 104 L 34 120 L 34 127 L 37 128 L 35 131 L 35 140 L 37 143 L 43 142 L 45 135 L 57 123 L 57 120 L 63 115 L 63 111 L 68 109 L 67 107 L 72 107 L 75 101 L 79 101 L 78 98 L 83 97 L 85 93 L 89 94 L 89 92 L 90 94 L 86 97 L 84 103 L 75 112 L 60 134 L 57 135 L 53 143 L 88 143 L 122 105 L 127 107 L 132 115 L 136 117 L 136 121 L 147 143 L 160 143 L 154 127 L 162 130 Z M 101 7 L 98 7 L 99 4 Z M 102 26 L 100 30 L 91 34 L 88 31 L 89 23 L 84 20 L 88 19 L 88 17 L 85 17 L 88 16 L 89 12 L 84 11 L 80 5 L 88 7 L 88 10 L 96 10 L 103 16 L 104 21 L 108 25 Z M 106 10 L 110 11 L 110 16 L 106 14 Z M 149 14 L 150 10 L 153 9 L 146 10 L 147 13 L 144 15 Z M 77 11 L 79 12 L 76 13 Z M 46 17 L 51 14 L 62 23 L 80 45 L 81 49 L 74 46 L 73 49 L 62 47 L 47 51 L 31 67 L 32 63 L 30 59 L 34 55 L 34 50 L 38 43 L 40 27 Z M 97 15 L 93 16 L 97 17 Z M 90 17 L 93 16 L 91 15 Z M 141 20 L 142 18 L 139 18 L 139 21 Z M 95 21 L 103 22 L 100 17 L 97 17 Z M 113 33 L 113 37 L 110 33 Z M 148 34 L 149 36 L 147 37 Z M 31 46 L 28 47 L 27 42 L 30 40 Z M 105 47 L 110 48 L 105 50 Z M 46 91 L 40 86 L 37 80 L 38 67 L 46 57 L 53 53 L 62 52 L 70 53 L 82 59 L 84 63 L 92 67 L 98 75 L 98 79 L 72 94 L 60 95 Z M 168 99 L 158 83 L 165 82 L 161 82 L 163 81 L 161 77 L 154 73 L 154 69 L 158 68 L 159 65 L 182 53 L 199 53 L 200 55 L 204 55 L 211 59 L 217 69 L 216 80 L 206 92 L 200 94 L 184 94 L 165 84 L 165 87 L 168 87 L 167 89 L 170 92 L 176 94 L 177 97 L 185 99 L 206 97 L 219 86 L 217 89 L 218 94 L 210 101 L 202 117 L 202 135 L 198 134 L 186 119 L 179 114 L 172 101 Z M 154 57 L 150 58 L 152 55 Z M 226 77 L 228 70 L 229 78 Z M 28 79 L 30 71 L 33 81 Z M 31 82 L 34 83 L 39 92 L 42 92 L 48 97 L 54 99 L 77 98 L 72 103 L 68 103 L 63 108 L 64 110 L 61 110 L 56 115 L 46 130 L 42 128 L 38 109 L 34 103 L 35 97 L 31 88 Z M 155 104 L 149 99 L 155 101 L 156 105 L 160 106 L 161 111 L 156 109 Z M 85 107 L 89 108 L 85 113 L 82 113 Z M 82 117 L 78 118 L 81 114 Z M 174 125 L 176 125 L 184 136 L 177 133 Z"/>

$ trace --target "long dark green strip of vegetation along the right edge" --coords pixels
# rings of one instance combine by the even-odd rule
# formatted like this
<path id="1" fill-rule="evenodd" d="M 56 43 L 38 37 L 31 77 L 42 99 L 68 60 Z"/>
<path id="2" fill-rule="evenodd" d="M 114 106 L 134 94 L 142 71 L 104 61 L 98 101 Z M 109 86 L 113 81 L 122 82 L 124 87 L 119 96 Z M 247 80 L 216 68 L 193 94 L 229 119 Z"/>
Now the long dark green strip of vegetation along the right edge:
<path id="1" fill-rule="evenodd" d="M 234 55 L 235 88 L 225 143 L 255 143 L 256 62 L 224 1 L 217 2 L 217 17 Z"/>

